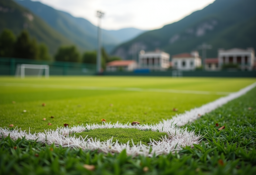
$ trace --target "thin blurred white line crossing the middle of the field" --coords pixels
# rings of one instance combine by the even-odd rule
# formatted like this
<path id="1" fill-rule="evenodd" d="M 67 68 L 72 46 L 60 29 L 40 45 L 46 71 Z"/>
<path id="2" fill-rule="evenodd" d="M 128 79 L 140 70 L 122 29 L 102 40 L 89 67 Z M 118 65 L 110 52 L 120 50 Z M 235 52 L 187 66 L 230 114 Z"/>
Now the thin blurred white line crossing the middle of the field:
<path id="1" fill-rule="evenodd" d="M 203 95 L 228 95 L 232 92 L 211 92 L 211 91 L 191 91 L 191 90 L 176 90 L 176 89 L 145 89 L 133 87 L 95 87 L 95 86 L 67 86 L 67 85 L 40 85 L 27 83 L 0 83 L 0 86 L 13 87 L 31 87 L 31 88 L 57 88 L 57 89 L 80 89 L 80 90 L 107 90 L 107 91 L 138 91 L 138 92 L 166 92 L 180 94 L 203 94 Z"/>

